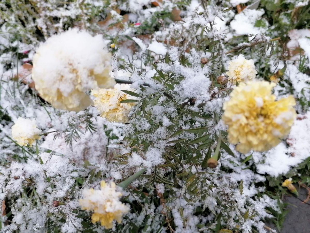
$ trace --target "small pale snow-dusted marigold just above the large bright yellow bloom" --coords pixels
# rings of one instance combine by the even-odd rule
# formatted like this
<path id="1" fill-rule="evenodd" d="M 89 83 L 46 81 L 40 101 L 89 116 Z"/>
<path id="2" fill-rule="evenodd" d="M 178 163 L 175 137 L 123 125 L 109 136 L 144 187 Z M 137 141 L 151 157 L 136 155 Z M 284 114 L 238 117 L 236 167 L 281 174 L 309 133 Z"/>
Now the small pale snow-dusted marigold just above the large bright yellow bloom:
<path id="1" fill-rule="evenodd" d="M 255 78 L 257 71 L 255 69 L 254 61 L 252 59 L 247 60 L 240 54 L 236 59 L 229 62 L 228 71 L 229 81 L 233 84 L 249 81 Z"/>

